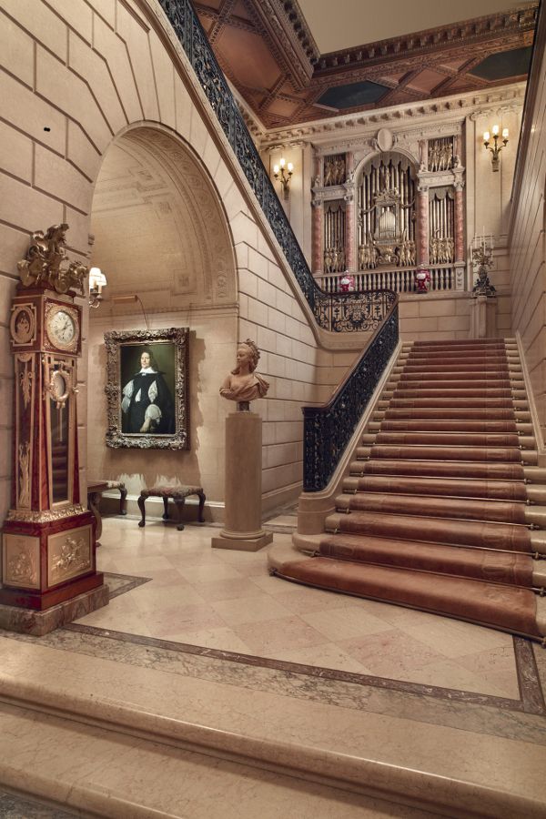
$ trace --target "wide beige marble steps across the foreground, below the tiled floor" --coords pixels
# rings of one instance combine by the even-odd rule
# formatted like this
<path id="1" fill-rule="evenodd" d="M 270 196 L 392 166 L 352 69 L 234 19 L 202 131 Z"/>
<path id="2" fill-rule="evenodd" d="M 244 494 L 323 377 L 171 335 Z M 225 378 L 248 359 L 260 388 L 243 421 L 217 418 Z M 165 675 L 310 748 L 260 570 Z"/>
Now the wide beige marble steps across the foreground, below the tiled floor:
<path id="1" fill-rule="evenodd" d="M 212 660 L 211 676 L 196 678 L 77 652 L 60 674 L 63 652 L 6 638 L 0 654 L 0 784 L 78 815 L 466 819 L 490 789 L 463 764 L 450 760 L 443 773 L 430 726 L 261 690 L 251 665 L 235 663 L 224 682 Z M 400 743 L 407 730 L 411 748 Z M 447 730 L 458 743 L 460 732 Z M 373 748 L 363 744 L 382 731 Z M 486 770 L 498 747 L 496 738 Z M 482 815 L 510 805 L 514 819 L 528 816 L 527 790 L 508 769 L 503 781 Z"/>

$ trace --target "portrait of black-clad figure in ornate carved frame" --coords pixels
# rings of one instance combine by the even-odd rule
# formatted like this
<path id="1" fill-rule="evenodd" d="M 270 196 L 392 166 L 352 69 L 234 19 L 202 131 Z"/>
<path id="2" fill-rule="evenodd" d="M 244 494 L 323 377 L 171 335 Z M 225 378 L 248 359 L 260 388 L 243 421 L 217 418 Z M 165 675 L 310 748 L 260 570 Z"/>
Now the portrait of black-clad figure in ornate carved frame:
<path id="1" fill-rule="evenodd" d="M 189 449 L 189 329 L 105 333 L 106 446 Z"/>

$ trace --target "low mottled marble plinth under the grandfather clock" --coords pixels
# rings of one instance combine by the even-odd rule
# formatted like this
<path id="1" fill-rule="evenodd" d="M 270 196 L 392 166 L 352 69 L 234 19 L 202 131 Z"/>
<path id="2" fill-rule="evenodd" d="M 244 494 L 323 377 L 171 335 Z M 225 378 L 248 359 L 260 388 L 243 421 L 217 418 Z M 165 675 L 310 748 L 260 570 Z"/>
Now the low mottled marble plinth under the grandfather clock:
<path id="1" fill-rule="evenodd" d="M 0 629 L 43 637 L 44 634 L 53 632 L 68 622 L 85 617 L 86 614 L 106 606 L 108 596 L 108 587 L 103 583 L 92 591 L 86 591 L 71 600 L 57 603 L 44 612 L 0 603 Z"/>

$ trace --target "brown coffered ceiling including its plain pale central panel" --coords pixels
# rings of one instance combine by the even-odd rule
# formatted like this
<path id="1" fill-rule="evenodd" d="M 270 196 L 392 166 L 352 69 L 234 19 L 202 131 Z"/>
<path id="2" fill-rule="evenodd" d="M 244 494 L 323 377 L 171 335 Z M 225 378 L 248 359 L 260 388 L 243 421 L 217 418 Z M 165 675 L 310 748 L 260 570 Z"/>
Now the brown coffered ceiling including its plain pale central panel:
<path id="1" fill-rule="evenodd" d="M 502 0 L 194 5 L 224 73 L 268 128 L 521 81 L 539 6 Z"/>

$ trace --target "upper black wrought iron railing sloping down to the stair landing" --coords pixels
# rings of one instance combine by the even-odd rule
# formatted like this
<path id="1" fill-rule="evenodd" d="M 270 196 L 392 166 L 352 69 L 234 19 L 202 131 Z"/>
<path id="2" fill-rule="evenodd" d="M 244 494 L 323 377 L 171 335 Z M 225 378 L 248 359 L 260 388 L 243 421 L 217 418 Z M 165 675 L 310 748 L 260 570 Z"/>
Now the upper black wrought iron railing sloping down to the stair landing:
<path id="1" fill-rule="evenodd" d="M 159 2 L 196 72 L 197 80 L 238 158 L 319 327 L 334 332 L 374 329 L 386 312 L 383 309 L 380 315 L 382 297 L 378 300 L 375 293 L 326 294 L 319 288 L 190 0 Z"/>

